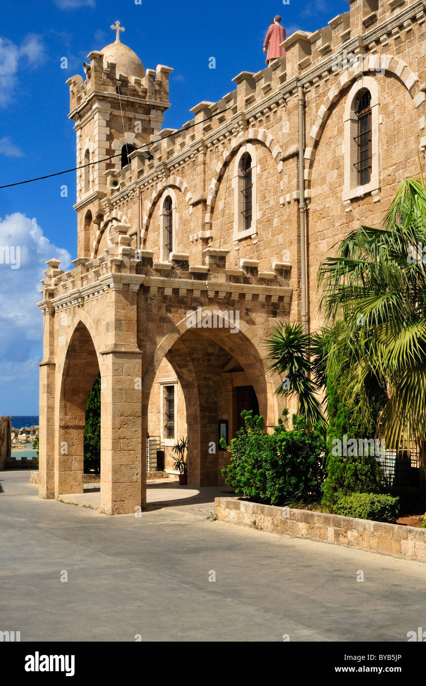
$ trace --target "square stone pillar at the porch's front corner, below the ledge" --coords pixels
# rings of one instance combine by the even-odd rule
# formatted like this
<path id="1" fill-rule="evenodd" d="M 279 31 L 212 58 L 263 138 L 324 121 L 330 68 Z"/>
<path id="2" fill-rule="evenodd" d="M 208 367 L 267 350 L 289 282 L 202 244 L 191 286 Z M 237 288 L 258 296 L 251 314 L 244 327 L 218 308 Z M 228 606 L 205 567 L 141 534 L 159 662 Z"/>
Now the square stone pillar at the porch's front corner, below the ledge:
<path id="1" fill-rule="evenodd" d="M 126 352 L 103 353 L 102 357 L 101 510 L 130 514 L 146 505 L 142 357 Z"/>

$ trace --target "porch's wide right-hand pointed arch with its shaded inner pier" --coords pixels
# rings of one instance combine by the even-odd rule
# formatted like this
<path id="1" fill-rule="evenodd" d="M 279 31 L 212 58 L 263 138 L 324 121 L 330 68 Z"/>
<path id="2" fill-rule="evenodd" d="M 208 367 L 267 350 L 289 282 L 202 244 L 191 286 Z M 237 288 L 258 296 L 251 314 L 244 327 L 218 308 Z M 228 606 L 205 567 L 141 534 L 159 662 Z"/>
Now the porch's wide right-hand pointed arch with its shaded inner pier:
<path id="1" fill-rule="evenodd" d="M 179 328 L 182 329 L 182 325 Z M 188 482 L 194 486 L 216 486 L 222 482 L 221 469 L 226 466 L 228 456 L 218 445 L 218 421 L 221 418 L 228 421 L 230 438 L 236 431 L 233 391 L 241 383 L 235 386 L 233 376 L 244 375 L 245 383 L 255 391 L 260 414 L 276 419 L 278 410 L 273 385 L 266 377 L 258 351 L 241 331 L 186 329 L 177 338 L 173 333 L 163 340 L 147 366 L 143 379 L 143 416 L 148 414 L 146 399 L 150 399 L 156 370 L 163 357 L 173 368 L 185 398 Z M 232 359 L 241 365 L 237 375 L 226 372 Z"/>

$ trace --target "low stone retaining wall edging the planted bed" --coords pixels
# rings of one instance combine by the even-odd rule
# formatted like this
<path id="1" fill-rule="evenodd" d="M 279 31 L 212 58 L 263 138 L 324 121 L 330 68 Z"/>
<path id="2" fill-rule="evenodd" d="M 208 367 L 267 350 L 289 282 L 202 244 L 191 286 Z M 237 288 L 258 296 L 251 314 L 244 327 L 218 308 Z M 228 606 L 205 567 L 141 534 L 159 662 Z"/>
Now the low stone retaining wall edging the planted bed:
<path id="1" fill-rule="evenodd" d="M 277 508 L 235 498 L 215 498 L 215 506 L 217 519 L 235 524 L 426 562 L 426 529 Z"/>

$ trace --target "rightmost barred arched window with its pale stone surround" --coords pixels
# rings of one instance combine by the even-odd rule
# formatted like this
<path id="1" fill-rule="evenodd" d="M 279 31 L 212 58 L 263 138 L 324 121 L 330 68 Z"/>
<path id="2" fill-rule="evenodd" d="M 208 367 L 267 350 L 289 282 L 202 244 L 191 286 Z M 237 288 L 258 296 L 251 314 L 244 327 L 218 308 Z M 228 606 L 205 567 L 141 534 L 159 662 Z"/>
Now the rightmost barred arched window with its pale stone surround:
<path id="1" fill-rule="evenodd" d="M 351 201 L 371 194 L 380 200 L 379 86 L 363 76 L 348 93 L 344 108 L 344 186 L 346 211 Z"/>

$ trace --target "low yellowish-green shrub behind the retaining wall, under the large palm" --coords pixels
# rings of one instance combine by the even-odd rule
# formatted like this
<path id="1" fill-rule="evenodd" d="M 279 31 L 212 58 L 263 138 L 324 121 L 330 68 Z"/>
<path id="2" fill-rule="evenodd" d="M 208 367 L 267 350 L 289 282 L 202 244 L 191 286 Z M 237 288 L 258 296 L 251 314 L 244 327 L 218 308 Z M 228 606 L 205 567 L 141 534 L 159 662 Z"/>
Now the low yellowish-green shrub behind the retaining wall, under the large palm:
<path id="1" fill-rule="evenodd" d="M 395 523 L 399 514 L 399 499 L 379 493 L 351 493 L 338 499 L 333 512 L 343 517 Z"/>

